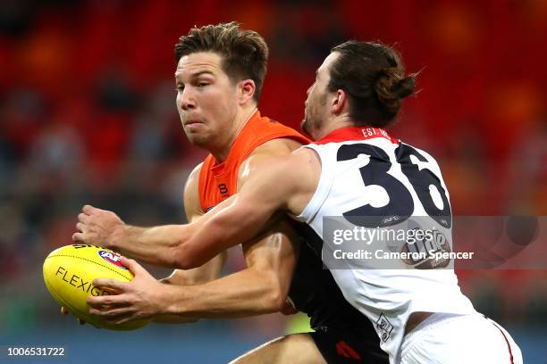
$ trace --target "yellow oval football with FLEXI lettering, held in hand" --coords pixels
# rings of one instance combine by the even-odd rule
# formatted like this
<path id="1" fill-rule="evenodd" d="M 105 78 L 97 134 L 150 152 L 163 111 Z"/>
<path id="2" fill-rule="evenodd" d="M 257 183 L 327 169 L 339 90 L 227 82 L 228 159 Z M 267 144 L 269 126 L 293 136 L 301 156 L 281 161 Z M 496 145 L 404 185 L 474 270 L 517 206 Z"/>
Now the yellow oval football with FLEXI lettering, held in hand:
<path id="1" fill-rule="evenodd" d="M 66 245 L 55 249 L 44 261 L 44 282 L 47 290 L 72 315 L 95 327 L 111 330 L 134 330 L 147 325 L 148 320 L 112 325 L 91 316 L 86 302 L 88 296 L 108 294 L 93 285 L 95 278 L 114 278 L 130 282 L 133 274 L 120 262 L 120 254 L 94 245 Z"/>

